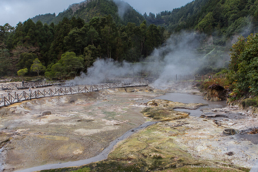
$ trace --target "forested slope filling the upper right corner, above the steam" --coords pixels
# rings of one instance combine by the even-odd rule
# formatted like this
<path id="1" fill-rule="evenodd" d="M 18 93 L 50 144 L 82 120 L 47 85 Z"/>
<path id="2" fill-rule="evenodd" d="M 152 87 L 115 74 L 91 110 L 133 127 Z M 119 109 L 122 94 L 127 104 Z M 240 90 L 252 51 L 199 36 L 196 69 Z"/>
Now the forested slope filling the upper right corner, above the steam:
<path id="1" fill-rule="evenodd" d="M 215 44 L 224 44 L 233 35 L 258 31 L 258 1 L 195 0 L 172 11 L 145 13 L 144 18 L 170 32 L 195 30 L 215 36 Z"/>

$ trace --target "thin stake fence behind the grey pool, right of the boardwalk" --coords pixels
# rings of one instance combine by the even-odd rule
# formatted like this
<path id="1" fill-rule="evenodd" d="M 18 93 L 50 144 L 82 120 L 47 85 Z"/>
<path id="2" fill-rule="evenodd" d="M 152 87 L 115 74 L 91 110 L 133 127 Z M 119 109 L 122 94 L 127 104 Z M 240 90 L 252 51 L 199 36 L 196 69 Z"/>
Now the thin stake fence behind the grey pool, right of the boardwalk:
<path id="1" fill-rule="evenodd" d="M 220 75 L 167 75 L 167 82 L 169 81 L 208 81 L 216 78 L 225 78 L 226 74 Z"/>

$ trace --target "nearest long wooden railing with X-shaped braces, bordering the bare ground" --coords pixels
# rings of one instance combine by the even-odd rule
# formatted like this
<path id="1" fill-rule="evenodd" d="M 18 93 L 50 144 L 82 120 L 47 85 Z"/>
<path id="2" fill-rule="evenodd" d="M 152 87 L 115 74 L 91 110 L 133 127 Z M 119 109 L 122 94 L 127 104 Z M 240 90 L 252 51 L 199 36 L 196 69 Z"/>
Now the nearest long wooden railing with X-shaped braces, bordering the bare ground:
<path id="1" fill-rule="evenodd" d="M 119 88 L 119 87 L 134 87 L 134 86 L 148 86 L 147 80 L 135 80 L 120 83 L 105 83 L 98 85 L 87 85 L 83 87 L 60 87 L 43 90 L 31 90 L 31 91 L 16 91 L 12 93 L 5 93 L 0 95 L 0 107 L 8 106 L 13 103 L 38 99 L 42 97 L 53 97 L 61 95 L 71 95 L 79 93 L 87 93 L 107 88 Z"/>

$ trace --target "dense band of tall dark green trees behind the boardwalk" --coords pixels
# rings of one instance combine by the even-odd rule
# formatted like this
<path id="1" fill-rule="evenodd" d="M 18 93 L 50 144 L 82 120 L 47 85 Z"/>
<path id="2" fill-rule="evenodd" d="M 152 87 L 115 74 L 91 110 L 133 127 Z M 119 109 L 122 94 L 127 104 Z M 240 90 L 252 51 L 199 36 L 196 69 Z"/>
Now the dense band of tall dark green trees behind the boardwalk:
<path id="1" fill-rule="evenodd" d="M 4 34 L 0 37 L 0 65 L 4 68 L 0 75 L 15 74 L 20 69 L 28 69 L 28 75 L 34 75 L 30 67 L 38 58 L 49 76 L 56 79 L 74 77 L 74 71 L 86 71 L 96 58 L 138 61 L 165 41 L 164 28 L 147 26 L 146 21 L 140 26 L 130 22 L 117 26 L 111 15 L 93 17 L 86 23 L 81 18 L 64 17 L 57 25 L 43 25 L 41 21 L 35 24 L 28 19 L 15 29 L 7 24 L 1 30 Z M 68 56 L 74 59 L 69 61 L 69 67 L 75 65 L 71 70 L 61 64 L 62 57 Z"/>

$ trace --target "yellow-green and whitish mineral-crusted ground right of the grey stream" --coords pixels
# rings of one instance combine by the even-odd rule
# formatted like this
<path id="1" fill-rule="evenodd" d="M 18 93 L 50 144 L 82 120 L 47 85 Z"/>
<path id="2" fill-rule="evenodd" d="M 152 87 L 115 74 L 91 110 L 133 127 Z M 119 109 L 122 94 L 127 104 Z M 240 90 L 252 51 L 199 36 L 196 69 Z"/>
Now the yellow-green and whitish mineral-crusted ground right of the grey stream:
<path id="1" fill-rule="evenodd" d="M 212 118 L 188 116 L 187 113 L 181 114 L 173 111 L 164 115 L 155 111 L 157 108 L 158 110 L 162 108 L 168 110 L 179 105 L 183 107 L 183 104 L 157 99 L 146 102 L 142 113 L 146 116 L 149 113 L 152 114 L 149 117 L 154 120 L 159 118 L 159 120 L 165 121 L 148 126 L 122 140 L 106 160 L 82 167 L 53 171 L 68 171 L 78 168 L 103 172 L 156 171 L 180 169 L 181 167 L 185 171 L 189 171 L 192 167 L 212 167 L 210 171 L 215 168 L 220 168 L 219 171 L 249 171 L 248 168 L 236 169 L 234 167 L 237 165 L 248 167 L 255 163 L 258 155 L 257 143 L 241 137 L 245 135 L 245 132 L 242 132 L 242 135 L 226 135 L 223 134 L 223 130 L 230 126 L 241 130 L 249 120 L 252 120 L 249 125 L 257 125 L 257 117 L 248 116 L 248 114 L 245 118 L 240 117 L 241 115 L 235 117 L 234 113 L 240 114 L 240 111 L 233 107 L 205 110 L 203 115 L 214 112 L 214 118 L 217 118 L 216 114 L 222 112 L 236 118 L 230 119 L 232 117 L 228 116 L 228 120 L 232 120 L 233 124 L 227 122 L 217 124 L 216 119 Z M 143 104 L 134 103 L 132 105 L 142 106 Z M 200 105 L 203 104 L 190 103 L 185 104 L 184 108 L 198 108 Z M 170 120 L 168 120 L 168 116 L 170 116 Z M 241 122 L 237 124 L 239 119 Z M 225 119 L 225 121 L 227 120 Z M 203 168 L 203 170 L 206 169 Z"/>

